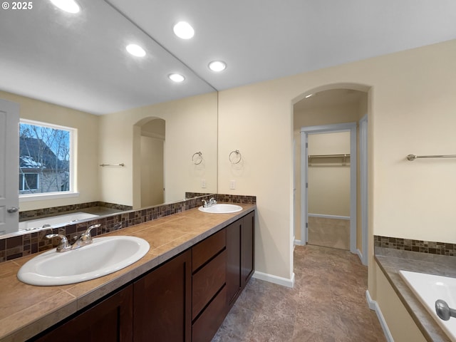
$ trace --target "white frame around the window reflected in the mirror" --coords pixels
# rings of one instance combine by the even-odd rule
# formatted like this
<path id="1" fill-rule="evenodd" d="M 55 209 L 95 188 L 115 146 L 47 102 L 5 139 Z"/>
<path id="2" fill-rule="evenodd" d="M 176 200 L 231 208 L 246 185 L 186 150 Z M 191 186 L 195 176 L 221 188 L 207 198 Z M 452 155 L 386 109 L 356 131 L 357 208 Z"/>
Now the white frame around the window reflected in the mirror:
<path id="1" fill-rule="evenodd" d="M 68 170 L 70 171 L 70 175 L 68 177 L 69 182 L 69 190 L 68 191 L 57 191 L 57 192 L 41 192 L 38 194 L 19 194 L 19 202 L 30 202 L 30 201 L 37 201 L 37 200 L 45 200 L 45 199 L 59 199 L 59 198 L 66 198 L 66 197 L 78 197 L 79 192 L 77 191 L 76 187 L 76 142 L 78 137 L 78 129 L 63 125 L 56 125 L 53 123 L 45 123 L 43 121 L 37 120 L 28 120 L 21 118 L 19 120 L 19 125 L 24 123 L 26 125 L 36 125 L 45 128 L 54 128 L 57 130 L 66 130 L 69 132 L 69 160 L 68 160 Z M 18 127 L 19 129 L 19 127 Z M 18 153 L 19 158 L 19 153 Z M 27 173 L 27 172 L 24 172 Z M 39 177 L 39 175 L 38 175 Z M 19 189 L 18 189 L 19 193 Z"/>

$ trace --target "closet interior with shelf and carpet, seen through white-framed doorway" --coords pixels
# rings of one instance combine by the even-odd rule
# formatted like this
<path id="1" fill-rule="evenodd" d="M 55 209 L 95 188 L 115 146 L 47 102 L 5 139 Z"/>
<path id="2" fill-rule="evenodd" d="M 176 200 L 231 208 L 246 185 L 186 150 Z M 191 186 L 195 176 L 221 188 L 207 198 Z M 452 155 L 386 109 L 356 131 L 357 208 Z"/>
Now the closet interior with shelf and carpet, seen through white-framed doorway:
<path id="1" fill-rule="evenodd" d="M 350 132 L 309 134 L 309 244 L 350 250 Z"/>

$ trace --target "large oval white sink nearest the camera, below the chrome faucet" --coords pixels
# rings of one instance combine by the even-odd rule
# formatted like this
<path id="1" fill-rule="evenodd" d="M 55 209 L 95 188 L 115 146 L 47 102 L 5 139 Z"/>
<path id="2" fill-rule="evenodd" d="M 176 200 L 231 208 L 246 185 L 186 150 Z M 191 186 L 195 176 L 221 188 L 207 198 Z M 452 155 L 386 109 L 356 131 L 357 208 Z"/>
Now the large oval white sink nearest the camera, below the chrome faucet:
<path id="1" fill-rule="evenodd" d="M 133 264 L 150 246 L 139 237 L 95 237 L 92 244 L 68 252 L 51 249 L 29 260 L 19 269 L 20 281 L 52 286 L 95 279 Z"/>

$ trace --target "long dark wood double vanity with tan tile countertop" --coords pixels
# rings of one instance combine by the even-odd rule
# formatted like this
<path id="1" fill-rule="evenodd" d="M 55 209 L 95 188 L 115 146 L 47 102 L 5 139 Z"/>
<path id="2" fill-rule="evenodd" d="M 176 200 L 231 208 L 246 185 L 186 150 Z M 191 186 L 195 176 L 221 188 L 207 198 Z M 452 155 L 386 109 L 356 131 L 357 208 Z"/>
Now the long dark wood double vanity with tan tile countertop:
<path id="1" fill-rule="evenodd" d="M 0 320 L 0 341 L 210 341 L 254 272 L 254 209 L 190 209 L 107 234 L 141 237 L 150 251 L 91 281 L 30 286 L 6 273 L 0 306 L 11 306 L 12 315 Z M 0 271 L 28 259 L 7 261 Z M 58 300 L 46 298 L 55 294 Z"/>

